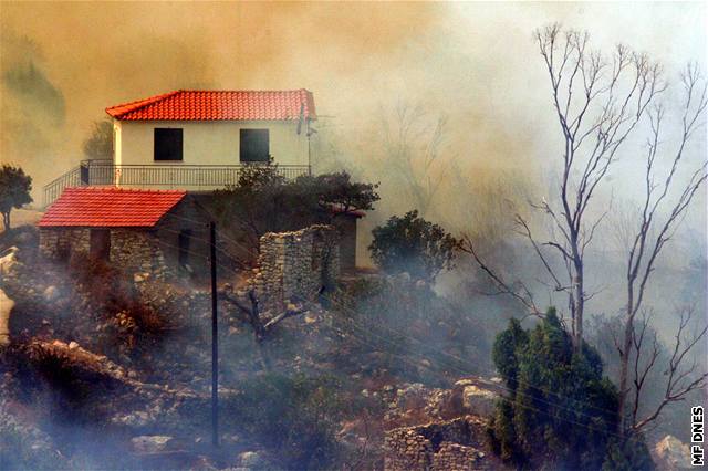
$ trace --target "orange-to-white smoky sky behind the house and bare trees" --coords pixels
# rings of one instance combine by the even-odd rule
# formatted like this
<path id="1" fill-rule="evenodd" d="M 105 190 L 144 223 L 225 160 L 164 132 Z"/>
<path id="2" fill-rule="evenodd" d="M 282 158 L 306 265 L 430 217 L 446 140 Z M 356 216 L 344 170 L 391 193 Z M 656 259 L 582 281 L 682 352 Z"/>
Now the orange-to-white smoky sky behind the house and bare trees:
<path id="1" fill-rule="evenodd" d="M 400 103 L 445 117 L 439 159 L 471 181 L 521 171 L 543 192 L 561 138 L 532 32 L 555 21 L 593 48 L 647 52 L 674 83 L 688 61 L 706 69 L 702 3 L 2 2 L 0 158 L 24 166 L 39 196 L 82 158 L 106 106 L 176 88 L 306 87 L 320 134 L 383 195 L 398 184 L 379 169 L 382 116 Z M 627 197 L 639 187 L 632 145 L 612 184 Z M 704 130 L 690 154 L 705 149 Z M 437 205 L 454 208 L 444 187 Z"/>

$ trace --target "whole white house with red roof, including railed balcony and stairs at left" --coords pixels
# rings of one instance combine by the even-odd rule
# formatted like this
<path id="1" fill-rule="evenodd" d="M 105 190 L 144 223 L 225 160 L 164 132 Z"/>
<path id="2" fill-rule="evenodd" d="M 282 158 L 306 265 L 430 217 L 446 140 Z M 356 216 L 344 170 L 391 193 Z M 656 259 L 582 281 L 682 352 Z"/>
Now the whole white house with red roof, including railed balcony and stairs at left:
<path id="1" fill-rule="evenodd" d="M 209 191 L 233 185 L 246 165 L 270 158 L 289 178 L 311 168 L 312 93 L 178 90 L 106 108 L 112 160 L 86 160 L 44 188 L 118 186 Z"/>

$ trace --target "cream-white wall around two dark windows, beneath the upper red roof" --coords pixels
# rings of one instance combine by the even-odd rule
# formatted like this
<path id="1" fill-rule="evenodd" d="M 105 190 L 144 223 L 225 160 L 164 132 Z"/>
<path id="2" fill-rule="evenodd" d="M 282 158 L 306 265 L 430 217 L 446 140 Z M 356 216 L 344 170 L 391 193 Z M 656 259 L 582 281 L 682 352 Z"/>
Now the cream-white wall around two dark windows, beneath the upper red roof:
<path id="1" fill-rule="evenodd" d="M 156 127 L 183 129 L 183 160 L 154 160 Z M 270 154 L 282 165 L 308 165 L 306 127 L 298 134 L 296 121 L 158 122 L 116 121 L 115 163 L 121 165 L 238 165 L 240 129 L 269 129 Z"/>

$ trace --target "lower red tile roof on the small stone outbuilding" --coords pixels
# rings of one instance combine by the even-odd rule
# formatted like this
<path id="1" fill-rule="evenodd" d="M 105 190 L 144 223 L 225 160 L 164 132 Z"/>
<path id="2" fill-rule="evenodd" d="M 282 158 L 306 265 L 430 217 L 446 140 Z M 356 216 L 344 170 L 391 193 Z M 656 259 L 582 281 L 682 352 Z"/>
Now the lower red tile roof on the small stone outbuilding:
<path id="1" fill-rule="evenodd" d="M 152 228 L 186 195 L 181 190 L 66 188 L 39 227 Z"/>

